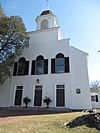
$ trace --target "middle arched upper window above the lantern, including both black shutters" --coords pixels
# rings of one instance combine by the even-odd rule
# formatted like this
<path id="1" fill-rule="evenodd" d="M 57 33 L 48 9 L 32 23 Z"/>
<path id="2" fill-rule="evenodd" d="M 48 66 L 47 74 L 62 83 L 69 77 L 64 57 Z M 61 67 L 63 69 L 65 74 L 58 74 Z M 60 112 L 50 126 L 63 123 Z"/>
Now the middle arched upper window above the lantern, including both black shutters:
<path id="1" fill-rule="evenodd" d="M 36 60 L 32 61 L 31 74 L 48 74 L 48 59 L 44 59 L 43 56 L 39 55 Z"/>

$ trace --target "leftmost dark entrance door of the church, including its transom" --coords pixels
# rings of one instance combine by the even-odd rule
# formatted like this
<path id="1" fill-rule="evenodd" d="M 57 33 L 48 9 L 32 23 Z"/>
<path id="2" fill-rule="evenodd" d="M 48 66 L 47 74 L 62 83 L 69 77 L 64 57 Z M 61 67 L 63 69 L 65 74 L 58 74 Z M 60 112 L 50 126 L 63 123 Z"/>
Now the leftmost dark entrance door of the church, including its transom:
<path id="1" fill-rule="evenodd" d="M 17 86 L 14 105 L 21 106 L 23 86 Z"/>

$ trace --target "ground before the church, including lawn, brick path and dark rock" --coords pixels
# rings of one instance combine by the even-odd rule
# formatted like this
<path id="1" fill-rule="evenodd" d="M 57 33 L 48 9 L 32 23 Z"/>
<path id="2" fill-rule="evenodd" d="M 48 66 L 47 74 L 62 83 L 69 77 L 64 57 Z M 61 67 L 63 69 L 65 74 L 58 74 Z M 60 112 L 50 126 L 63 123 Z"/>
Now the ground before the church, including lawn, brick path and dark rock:
<path id="1" fill-rule="evenodd" d="M 1 108 L 0 133 L 99 133 L 87 112 Z M 89 118 L 89 119 L 88 119 Z"/>

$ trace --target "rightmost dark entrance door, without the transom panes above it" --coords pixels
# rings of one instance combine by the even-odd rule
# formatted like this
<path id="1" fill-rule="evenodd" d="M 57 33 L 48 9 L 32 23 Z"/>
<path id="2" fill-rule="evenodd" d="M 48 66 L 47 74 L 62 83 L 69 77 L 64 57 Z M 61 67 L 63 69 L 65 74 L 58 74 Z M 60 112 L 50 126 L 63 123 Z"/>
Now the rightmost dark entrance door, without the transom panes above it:
<path id="1" fill-rule="evenodd" d="M 64 107 L 65 106 L 65 90 L 56 89 L 56 106 Z"/>

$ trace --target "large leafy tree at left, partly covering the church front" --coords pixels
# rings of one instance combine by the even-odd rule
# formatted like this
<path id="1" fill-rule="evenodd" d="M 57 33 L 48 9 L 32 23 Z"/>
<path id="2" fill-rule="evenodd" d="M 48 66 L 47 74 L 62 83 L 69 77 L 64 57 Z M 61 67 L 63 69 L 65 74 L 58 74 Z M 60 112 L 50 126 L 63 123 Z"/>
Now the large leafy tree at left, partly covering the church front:
<path id="1" fill-rule="evenodd" d="M 2 14 L 1 7 L 0 12 Z M 0 17 L 0 84 L 11 75 L 14 59 L 28 45 L 28 39 L 21 17 Z"/>

